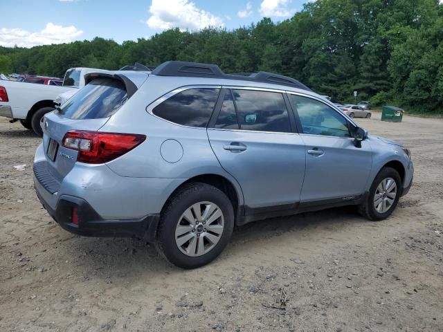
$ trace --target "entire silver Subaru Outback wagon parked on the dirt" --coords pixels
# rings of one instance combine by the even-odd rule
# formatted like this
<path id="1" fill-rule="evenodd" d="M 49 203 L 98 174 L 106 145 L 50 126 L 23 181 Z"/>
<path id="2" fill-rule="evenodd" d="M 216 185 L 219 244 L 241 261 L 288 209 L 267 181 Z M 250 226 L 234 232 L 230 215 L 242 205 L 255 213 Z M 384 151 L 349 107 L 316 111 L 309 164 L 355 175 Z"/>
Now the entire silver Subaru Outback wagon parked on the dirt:
<path id="1" fill-rule="evenodd" d="M 234 225 L 341 205 L 386 219 L 412 184 L 406 147 L 290 77 L 165 62 L 85 81 L 44 116 L 37 196 L 69 232 L 142 238 L 182 268 Z"/>

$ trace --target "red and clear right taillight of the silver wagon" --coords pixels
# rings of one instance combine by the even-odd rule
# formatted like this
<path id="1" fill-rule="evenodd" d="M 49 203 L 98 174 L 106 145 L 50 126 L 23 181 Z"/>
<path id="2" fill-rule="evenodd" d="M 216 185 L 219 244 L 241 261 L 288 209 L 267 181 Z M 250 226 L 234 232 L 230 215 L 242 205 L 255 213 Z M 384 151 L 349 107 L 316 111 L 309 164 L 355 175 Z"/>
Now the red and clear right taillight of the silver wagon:
<path id="1" fill-rule="evenodd" d="M 136 133 L 71 130 L 64 135 L 62 146 L 77 150 L 81 163 L 102 164 L 123 156 L 145 139 Z"/>

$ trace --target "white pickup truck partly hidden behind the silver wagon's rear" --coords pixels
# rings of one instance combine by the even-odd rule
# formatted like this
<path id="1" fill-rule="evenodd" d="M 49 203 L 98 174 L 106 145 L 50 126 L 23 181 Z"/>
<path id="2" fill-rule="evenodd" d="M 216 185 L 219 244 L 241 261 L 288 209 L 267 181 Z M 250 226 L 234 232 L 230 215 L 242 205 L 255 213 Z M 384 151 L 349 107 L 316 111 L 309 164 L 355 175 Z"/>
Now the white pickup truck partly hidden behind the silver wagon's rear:
<path id="1" fill-rule="evenodd" d="M 42 136 L 40 122 L 43 116 L 82 88 L 84 75 L 88 73 L 111 72 L 95 68 L 70 68 L 64 75 L 63 86 L 0 80 L 0 116 L 12 119 L 10 122 L 19 120 L 26 129 Z"/>

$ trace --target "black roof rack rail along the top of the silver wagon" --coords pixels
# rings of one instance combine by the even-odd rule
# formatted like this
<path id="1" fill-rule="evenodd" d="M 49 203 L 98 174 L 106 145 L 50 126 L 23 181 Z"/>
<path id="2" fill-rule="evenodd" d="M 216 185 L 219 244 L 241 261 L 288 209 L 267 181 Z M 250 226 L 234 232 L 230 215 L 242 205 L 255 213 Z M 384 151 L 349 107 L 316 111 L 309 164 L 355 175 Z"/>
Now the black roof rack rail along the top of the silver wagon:
<path id="1" fill-rule="evenodd" d="M 181 77 L 210 77 L 224 78 L 228 80 L 245 80 L 253 82 L 264 82 L 269 84 L 279 84 L 293 86 L 298 89 L 311 91 L 305 84 L 294 80 L 291 77 L 267 73 L 260 71 L 258 73 L 236 73 L 226 74 L 216 64 L 199 64 L 197 62 L 168 61 L 152 71 L 152 75 L 158 76 L 181 76 Z"/>

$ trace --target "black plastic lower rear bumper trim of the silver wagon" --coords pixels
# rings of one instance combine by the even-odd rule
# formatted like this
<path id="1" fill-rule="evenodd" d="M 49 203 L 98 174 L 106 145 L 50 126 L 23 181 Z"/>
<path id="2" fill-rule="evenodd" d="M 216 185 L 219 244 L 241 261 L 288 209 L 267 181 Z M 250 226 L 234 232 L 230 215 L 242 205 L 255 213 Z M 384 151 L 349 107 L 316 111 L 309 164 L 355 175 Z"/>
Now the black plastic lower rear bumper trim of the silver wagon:
<path id="1" fill-rule="evenodd" d="M 160 221 L 159 214 L 149 214 L 141 219 L 102 219 L 84 199 L 63 195 L 53 210 L 42 197 L 40 202 L 62 227 L 84 237 L 137 237 L 154 242 Z M 73 210 L 77 210 L 78 224 L 73 223 Z"/>

